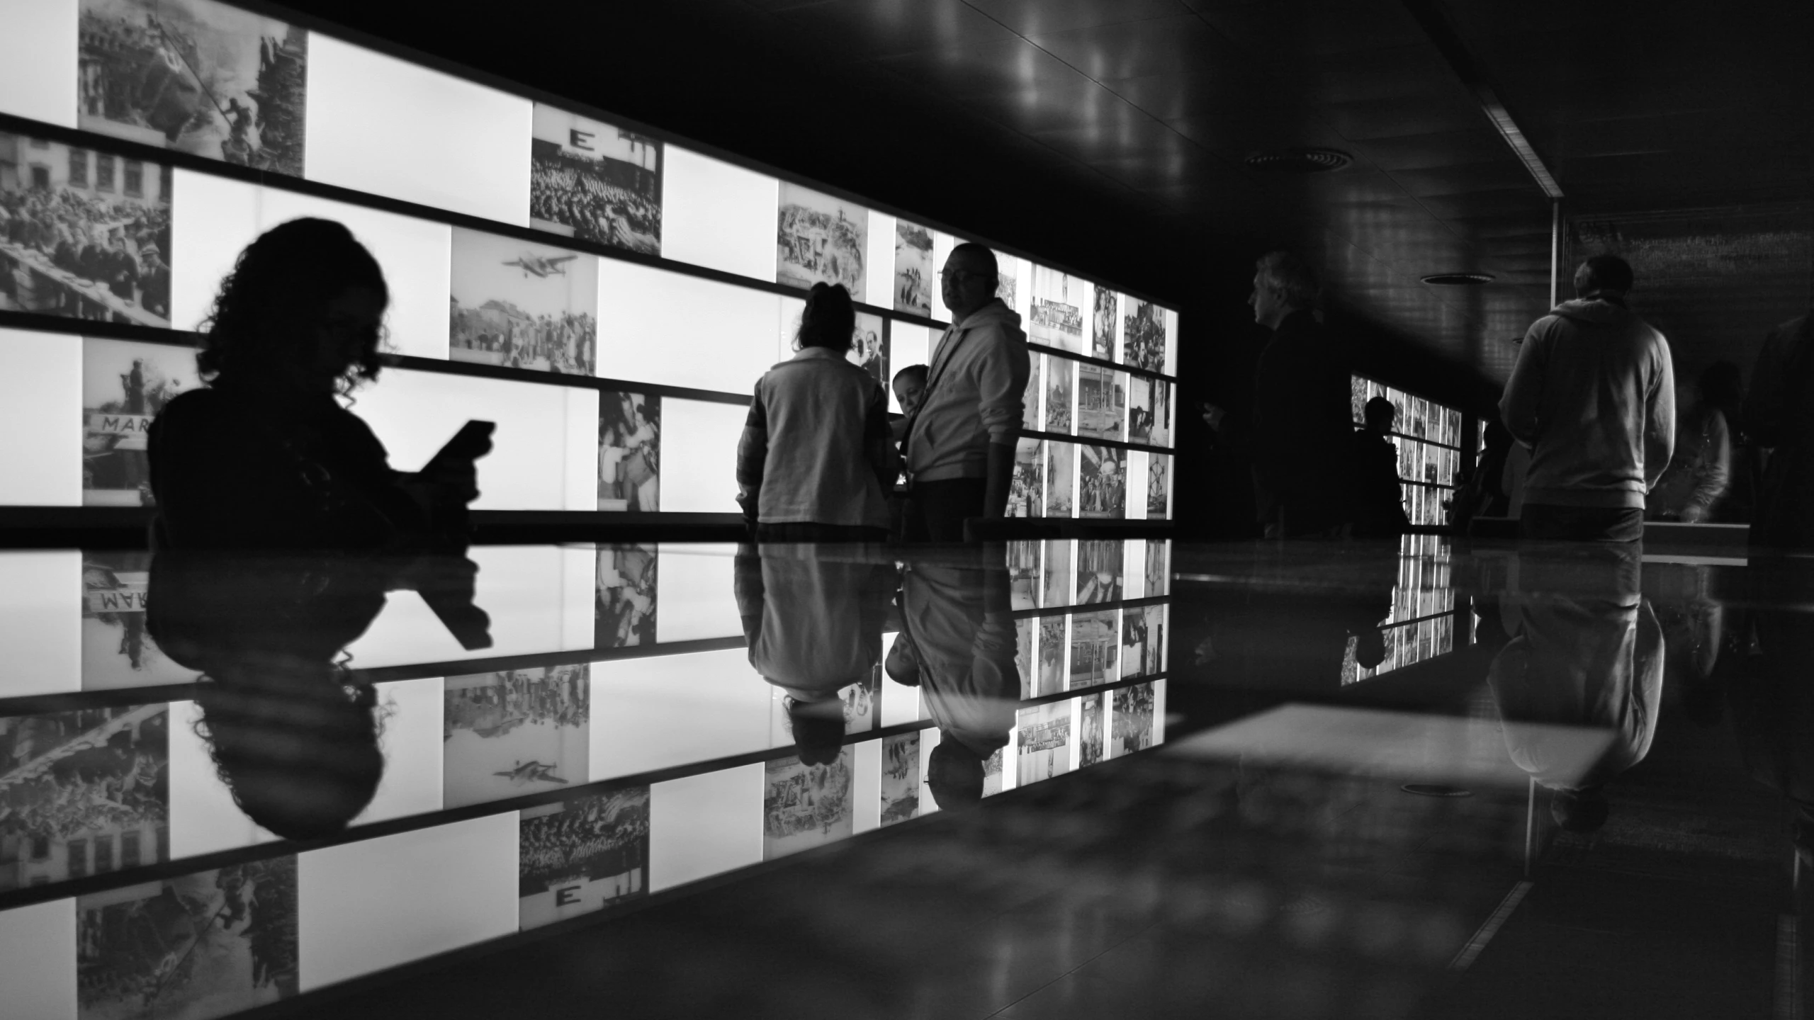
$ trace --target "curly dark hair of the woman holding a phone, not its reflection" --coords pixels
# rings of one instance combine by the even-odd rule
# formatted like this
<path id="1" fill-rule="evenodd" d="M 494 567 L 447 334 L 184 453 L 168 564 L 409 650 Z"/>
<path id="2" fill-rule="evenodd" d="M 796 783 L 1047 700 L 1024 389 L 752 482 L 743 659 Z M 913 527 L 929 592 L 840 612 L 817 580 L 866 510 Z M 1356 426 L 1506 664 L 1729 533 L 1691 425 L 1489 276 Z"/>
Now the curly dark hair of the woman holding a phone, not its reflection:
<path id="1" fill-rule="evenodd" d="M 385 270 L 345 225 L 305 218 L 272 227 L 239 252 L 221 280 L 201 323 L 198 372 L 210 381 L 285 374 L 314 343 L 328 301 L 356 287 L 390 303 Z M 361 338 L 339 374 L 341 392 L 377 378 L 383 341 L 383 329 Z"/>

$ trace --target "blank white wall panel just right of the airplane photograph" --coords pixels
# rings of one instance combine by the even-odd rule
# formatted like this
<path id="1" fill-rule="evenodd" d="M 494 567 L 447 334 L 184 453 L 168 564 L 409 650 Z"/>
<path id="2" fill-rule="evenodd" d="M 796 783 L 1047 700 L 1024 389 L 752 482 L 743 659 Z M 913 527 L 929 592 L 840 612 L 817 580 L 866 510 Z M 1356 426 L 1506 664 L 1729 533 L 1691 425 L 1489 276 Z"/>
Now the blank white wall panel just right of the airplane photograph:
<path id="1" fill-rule="evenodd" d="M 606 379 L 747 394 L 776 361 L 778 327 L 776 294 L 599 261 L 599 376 Z"/>

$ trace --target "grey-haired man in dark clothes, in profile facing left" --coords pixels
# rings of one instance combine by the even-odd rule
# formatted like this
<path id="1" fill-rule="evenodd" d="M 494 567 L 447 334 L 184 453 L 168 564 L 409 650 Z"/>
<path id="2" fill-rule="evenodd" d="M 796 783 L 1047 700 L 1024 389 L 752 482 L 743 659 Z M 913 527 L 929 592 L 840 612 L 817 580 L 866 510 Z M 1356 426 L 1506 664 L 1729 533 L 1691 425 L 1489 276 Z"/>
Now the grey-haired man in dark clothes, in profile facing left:
<path id="1" fill-rule="evenodd" d="M 1253 379 L 1253 501 L 1270 539 L 1335 534 L 1348 477 L 1348 365 L 1317 321 L 1317 280 L 1288 252 L 1261 256 L 1253 321 L 1272 330 Z"/>

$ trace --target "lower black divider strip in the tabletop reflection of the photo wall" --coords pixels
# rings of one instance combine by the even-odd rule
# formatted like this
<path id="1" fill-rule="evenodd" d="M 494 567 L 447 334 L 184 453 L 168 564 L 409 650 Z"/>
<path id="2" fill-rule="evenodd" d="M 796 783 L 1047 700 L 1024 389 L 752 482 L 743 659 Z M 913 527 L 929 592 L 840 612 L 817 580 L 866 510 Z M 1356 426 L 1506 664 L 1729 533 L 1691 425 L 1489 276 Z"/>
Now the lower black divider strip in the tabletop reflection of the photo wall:
<path id="1" fill-rule="evenodd" d="M 1132 677 L 1116 681 L 1110 684 L 1097 684 L 1085 690 L 1059 691 L 1052 695 L 1021 699 L 1016 704 L 1019 708 L 1030 708 L 1038 704 L 1050 704 L 1059 701 L 1070 701 L 1078 697 L 1088 697 L 1101 691 L 1114 691 L 1137 684 L 1150 684 L 1154 681 L 1166 679 L 1168 673 L 1152 673 L 1146 677 Z M 932 719 L 916 719 L 912 722 L 896 722 L 894 726 L 878 726 L 863 733 L 845 733 L 844 744 L 854 746 L 867 740 L 882 740 L 885 737 L 898 737 L 902 733 L 918 733 L 922 730 L 934 730 L 938 724 Z M 1012 742 L 1009 744 L 1012 748 Z M 65 897 L 83 897 L 89 893 L 102 893 L 107 889 L 118 889 L 125 886 L 138 886 L 143 882 L 156 882 L 161 878 L 180 878 L 183 875 L 194 875 L 196 871 L 212 871 L 216 868 L 229 868 L 232 864 L 245 864 L 250 860 L 268 860 L 272 857 L 287 857 L 292 853 L 303 853 L 310 849 L 321 849 L 328 846 L 343 846 L 352 842 L 365 842 L 370 839 L 381 839 L 397 833 L 410 833 L 419 829 L 432 829 L 437 826 L 446 826 L 452 822 L 464 822 L 472 819 L 484 819 L 490 815 L 508 815 L 512 811 L 522 811 L 524 808 L 535 808 L 541 804 L 559 804 L 564 800 L 575 800 L 579 797 L 593 797 L 599 793 L 608 793 L 613 790 L 626 790 L 631 786 L 651 786 L 655 782 L 668 782 L 675 779 L 688 779 L 695 775 L 707 775 L 713 771 L 724 771 L 729 768 L 762 764 L 775 759 L 785 759 L 795 755 L 793 744 L 784 744 L 778 748 L 764 748 L 756 751 L 742 751 L 736 755 L 724 755 L 718 759 L 706 759 L 698 762 L 668 766 L 660 770 L 631 773 L 622 777 L 600 779 L 599 782 L 588 782 L 584 786 L 568 786 L 564 790 L 548 790 L 541 793 L 530 793 L 524 797 L 508 797 L 502 800 L 486 800 L 484 804 L 466 804 L 463 808 L 443 808 L 439 811 L 424 811 L 421 815 L 406 815 L 403 819 L 388 819 L 383 822 L 370 822 L 357 828 L 348 828 L 327 839 L 317 840 L 270 840 L 256 846 L 241 846 L 232 849 L 219 849 L 214 853 L 200 853 L 194 857 L 183 857 L 176 860 L 161 860 L 158 864 L 147 864 L 140 868 L 129 868 L 120 871 L 109 871 L 105 875 L 87 875 L 83 878 L 69 878 L 63 882 L 53 882 L 45 886 L 27 886 L 24 889 L 11 889 L 0 893 L 0 911 L 22 907 L 29 904 L 40 904 L 49 900 L 62 900 Z M 1007 757 L 1007 755 L 1003 755 Z M 1010 762 L 1003 762 L 1001 768 L 1009 768 Z M 853 793 L 854 795 L 854 793 Z"/>

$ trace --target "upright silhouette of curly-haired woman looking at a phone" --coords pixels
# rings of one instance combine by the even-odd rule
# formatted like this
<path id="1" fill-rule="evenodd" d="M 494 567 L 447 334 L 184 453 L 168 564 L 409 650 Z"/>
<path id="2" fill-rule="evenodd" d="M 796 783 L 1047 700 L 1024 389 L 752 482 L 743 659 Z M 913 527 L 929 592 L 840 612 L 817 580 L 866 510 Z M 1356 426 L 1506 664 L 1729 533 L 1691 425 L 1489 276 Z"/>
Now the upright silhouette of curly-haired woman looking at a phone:
<path id="1" fill-rule="evenodd" d="M 252 241 L 196 356 L 207 388 L 151 425 L 154 537 L 169 548 L 385 548 L 463 541 L 473 457 L 394 470 L 339 399 L 377 378 L 390 301 L 372 254 L 328 220 Z"/>

